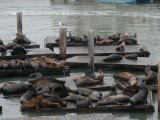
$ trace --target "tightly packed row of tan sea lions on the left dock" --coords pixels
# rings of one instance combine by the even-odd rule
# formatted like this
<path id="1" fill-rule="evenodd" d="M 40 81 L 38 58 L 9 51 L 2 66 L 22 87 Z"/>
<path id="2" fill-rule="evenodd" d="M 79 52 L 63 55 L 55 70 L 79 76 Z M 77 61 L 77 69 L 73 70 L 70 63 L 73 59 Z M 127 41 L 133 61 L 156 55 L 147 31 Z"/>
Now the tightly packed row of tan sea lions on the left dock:
<path id="1" fill-rule="evenodd" d="M 65 64 L 64 60 L 57 60 L 54 58 L 41 56 L 28 59 L 12 59 L 12 60 L 0 60 L 0 68 L 4 70 L 11 69 L 39 69 L 39 68 L 61 68 Z"/>

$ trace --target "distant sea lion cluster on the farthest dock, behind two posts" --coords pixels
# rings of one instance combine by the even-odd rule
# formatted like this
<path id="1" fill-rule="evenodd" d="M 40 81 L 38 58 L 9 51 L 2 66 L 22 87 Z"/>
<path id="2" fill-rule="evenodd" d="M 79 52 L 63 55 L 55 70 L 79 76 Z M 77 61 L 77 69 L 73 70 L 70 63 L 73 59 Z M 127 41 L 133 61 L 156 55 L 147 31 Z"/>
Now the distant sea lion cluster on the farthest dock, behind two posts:
<path id="1" fill-rule="evenodd" d="M 114 33 L 112 35 L 109 35 L 108 37 L 100 37 L 99 35 L 94 37 L 94 41 L 98 45 L 118 45 L 121 43 L 125 43 L 126 45 L 136 45 L 137 44 L 137 35 L 130 35 L 127 32 L 124 33 Z M 59 39 L 56 39 L 56 42 L 59 42 Z M 67 36 L 67 42 L 68 43 L 87 43 L 88 39 L 86 35 L 82 36 L 73 36 L 71 33 L 69 33 L 69 36 Z"/>

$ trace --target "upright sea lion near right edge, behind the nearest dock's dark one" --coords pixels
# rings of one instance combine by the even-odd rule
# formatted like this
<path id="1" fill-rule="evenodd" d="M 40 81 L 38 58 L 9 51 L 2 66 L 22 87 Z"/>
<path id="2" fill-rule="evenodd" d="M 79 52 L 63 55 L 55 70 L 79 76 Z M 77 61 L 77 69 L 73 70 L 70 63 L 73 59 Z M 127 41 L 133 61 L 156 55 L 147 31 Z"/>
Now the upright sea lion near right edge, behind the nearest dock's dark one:
<path id="1" fill-rule="evenodd" d="M 157 83 L 157 73 L 152 71 L 149 65 L 145 67 L 144 80 L 146 81 L 147 85 L 152 85 Z"/>

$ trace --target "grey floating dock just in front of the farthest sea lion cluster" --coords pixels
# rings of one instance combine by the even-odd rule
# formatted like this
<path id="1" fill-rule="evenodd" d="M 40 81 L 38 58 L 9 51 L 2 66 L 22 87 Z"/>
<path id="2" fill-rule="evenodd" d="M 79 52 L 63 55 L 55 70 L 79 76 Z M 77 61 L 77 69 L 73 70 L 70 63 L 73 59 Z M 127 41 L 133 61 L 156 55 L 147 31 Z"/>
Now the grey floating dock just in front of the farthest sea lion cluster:
<path id="1" fill-rule="evenodd" d="M 116 51 L 115 47 L 116 46 L 95 46 L 94 55 L 106 56 L 110 54 L 138 54 L 139 57 L 148 57 L 150 55 L 149 52 L 140 51 L 140 49 L 142 48 L 140 45 L 126 45 L 124 52 Z M 54 54 L 57 56 L 60 55 L 59 47 L 54 48 Z M 72 57 L 76 55 L 88 55 L 88 47 L 67 47 L 66 54 L 67 57 Z"/>

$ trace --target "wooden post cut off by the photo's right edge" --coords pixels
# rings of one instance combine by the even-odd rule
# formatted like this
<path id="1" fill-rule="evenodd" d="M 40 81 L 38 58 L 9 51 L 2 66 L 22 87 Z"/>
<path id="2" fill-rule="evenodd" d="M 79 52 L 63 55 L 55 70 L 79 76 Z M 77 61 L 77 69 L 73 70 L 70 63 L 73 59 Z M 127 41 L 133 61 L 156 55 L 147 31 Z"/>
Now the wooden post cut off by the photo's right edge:
<path id="1" fill-rule="evenodd" d="M 158 112 L 160 112 L 160 61 L 158 62 Z"/>

